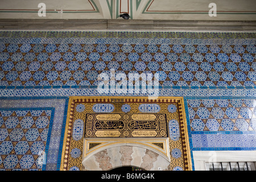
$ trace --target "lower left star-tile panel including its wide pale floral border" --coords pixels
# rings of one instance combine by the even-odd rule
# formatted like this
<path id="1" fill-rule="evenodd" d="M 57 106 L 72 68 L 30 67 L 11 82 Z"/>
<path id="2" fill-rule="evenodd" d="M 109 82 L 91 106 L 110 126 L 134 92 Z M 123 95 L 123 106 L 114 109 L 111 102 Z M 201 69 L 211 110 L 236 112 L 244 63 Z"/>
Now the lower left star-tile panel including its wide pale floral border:
<path id="1" fill-rule="evenodd" d="M 67 97 L 0 101 L 0 170 L 59 170 Z"/>

